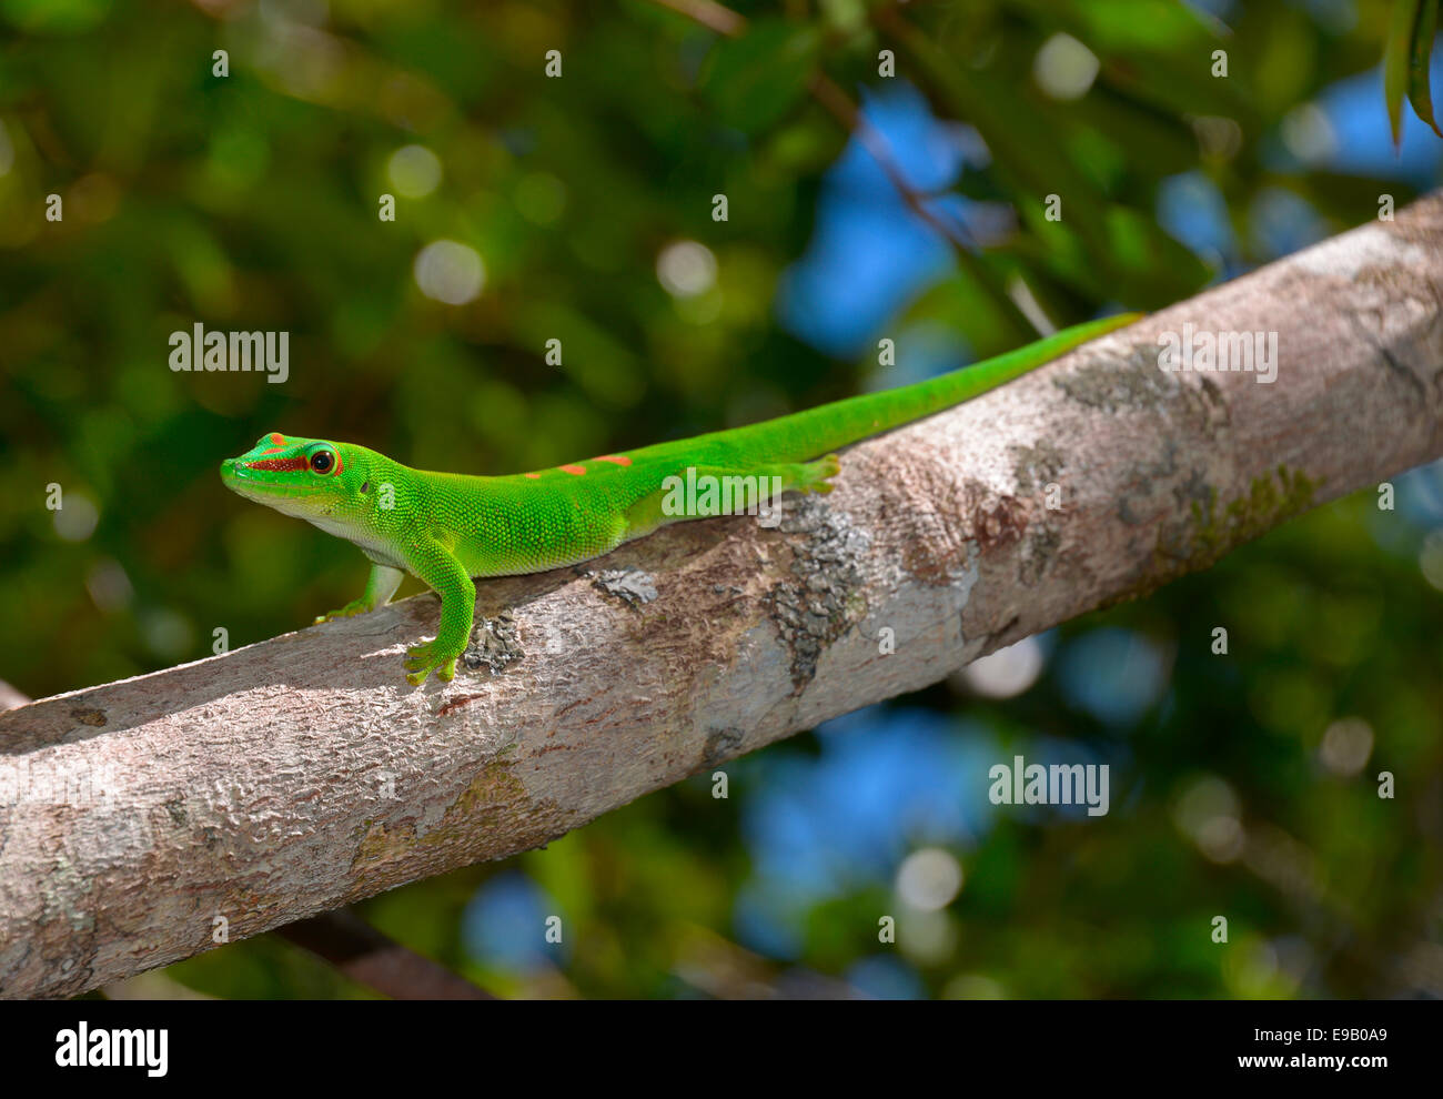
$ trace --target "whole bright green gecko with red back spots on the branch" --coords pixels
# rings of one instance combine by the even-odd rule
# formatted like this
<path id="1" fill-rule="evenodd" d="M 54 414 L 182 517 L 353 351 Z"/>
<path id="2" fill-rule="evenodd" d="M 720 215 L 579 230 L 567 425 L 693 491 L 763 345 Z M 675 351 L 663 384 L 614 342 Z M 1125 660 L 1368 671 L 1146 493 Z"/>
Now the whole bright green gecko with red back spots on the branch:
<path id="1" fill-rule="evenodd" d="M 782 492 L 831 490 L 835 451 L 994 389 L 1139 314 L 1102 317 L 915 385 L 749 427 L 501 477 L 410 469 L 355 443 L 263 436 L 221 463 L 247 499 L 345 538 L 371 560 L 361 597 L 316 622 L 385 606 L 405 573 L 442 599 L 436 639 L 407 649 L 417 687 L 456 675 L 470 640 L 476 577 L 541 573 L 610 552 L 697 513 L 664 506 L 677 477 L 776 477 Z M 675 496 L 672 493 L 672 502 Z"/>

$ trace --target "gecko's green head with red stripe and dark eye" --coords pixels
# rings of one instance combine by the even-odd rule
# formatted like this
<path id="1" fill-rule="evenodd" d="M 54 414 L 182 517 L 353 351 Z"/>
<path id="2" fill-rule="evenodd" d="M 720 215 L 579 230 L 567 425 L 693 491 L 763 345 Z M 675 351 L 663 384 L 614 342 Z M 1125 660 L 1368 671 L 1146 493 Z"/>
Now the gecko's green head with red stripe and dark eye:
<path id="1" fill-rule="evenodd" d="M 221 482 L 248 500 L 312 522 L 345 524 L 371 496 L 365 447 L 325 438 L 261 436 L 248 451 L 221 463 Z"/>

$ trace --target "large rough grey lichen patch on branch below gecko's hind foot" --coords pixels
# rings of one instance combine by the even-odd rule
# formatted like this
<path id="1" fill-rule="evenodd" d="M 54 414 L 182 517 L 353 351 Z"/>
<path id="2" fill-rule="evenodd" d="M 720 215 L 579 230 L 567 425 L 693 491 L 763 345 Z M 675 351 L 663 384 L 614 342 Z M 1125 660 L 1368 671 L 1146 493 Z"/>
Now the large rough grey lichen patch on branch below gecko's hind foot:
<path id="1" fill-rule="evenodd" d="M 772 587 L 763 603 L 791 653 L 797 695 L 815 678 L 823 650 L 861 617 L 859 561 L 872 539 L 844 515 L 805 496 L 786 511 L 779 529 L 792 537 L 791 577 Z"/>

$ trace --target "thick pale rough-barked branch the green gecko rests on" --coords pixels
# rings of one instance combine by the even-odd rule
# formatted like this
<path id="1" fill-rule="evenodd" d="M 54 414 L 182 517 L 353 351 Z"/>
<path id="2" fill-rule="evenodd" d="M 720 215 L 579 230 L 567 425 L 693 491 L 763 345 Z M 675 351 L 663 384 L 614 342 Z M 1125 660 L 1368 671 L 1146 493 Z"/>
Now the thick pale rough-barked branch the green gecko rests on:
<path id="1" fill-rule="evenodd" d="M 850 449 L 778 529 L 483 581 L 452 684 L 401 678 L 421 596 L 0 715 L 0 991 L 544 844 L 1436 459 L 1440 286 L 1430 196 Z M 1276 384 L 1159 369 L 1185 323 L 1277 332 Z"/>

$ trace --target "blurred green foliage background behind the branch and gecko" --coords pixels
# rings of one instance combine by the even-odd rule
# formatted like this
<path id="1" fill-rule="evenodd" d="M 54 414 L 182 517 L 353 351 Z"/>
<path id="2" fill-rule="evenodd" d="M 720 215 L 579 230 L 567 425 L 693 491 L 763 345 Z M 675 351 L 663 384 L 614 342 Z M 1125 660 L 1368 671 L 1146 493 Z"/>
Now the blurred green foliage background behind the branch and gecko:
<path id="1" fill-rule="evenodd" d="M 1271 258 L 1280 195 L 1325 234 L 1375 216 L 1384 190 L 1411 198 L 1417 177 L 1300 164 L 1280 140 L 1313 97 L 1378 63 L 1385 4 L 1214 7 L 1225 26 L 1163 0 L 789 0 L 739 4 L 746 26 L 726 37 L 639 1 L 0 0 L 0 676 L 46 695 L 349 600 L 359 554 L 221 489 L 218 462 L 263 431 L 514 472 L 887 384 L 773 313 L 848 141 L 811 94 L 814 66 L 860 100 L 886 84 L 890 49 L 937 117 L 986 143 L 990 162 L 957 190 L 1004 203 L 1016 228 L 893 317 L 977 356 L 1030 336 L 1007 304 L 1019 283 L 1059 325 L 1154 309 Z M 1078 98 L 1035 76 L 1061 33 L 1100 61 Z M 437 159 L 434 187 L 397 160 L 408 146 Z M 1234 254 L 1165 228 L 1160 189 L 1180 173 L 1221 198 Z M 52 193 L 62 221 L 46 219 Z M 394 222 L 378 216 L 385 193 Z M 1062 221 L 1045 216 L 1049 193 L 1065 195 Z M 420 291 L 413 265 L 436 239 L 482 258 L 475 300 Z M 658 280 L 675 241 L 714 255 L 698 294 Z M 289 381 L 172 372 L 169 333 L 196 322 L 289 332 Z M 65 519 L 45 506 L 51 485 Z M 877 943 L 877 914 L 896 910 L 886 874 L 802 913 L 791 958 L 739 945 L 749 798 L 823 757 L 812 736 L 730 764 L 729 800 L 697 776 L 545 851 L 361 910 L 514 995 L 835 991 L 866 987 L 877 958 L 921 995 L 1443 994 L 1443 633 L 1424 534 L 1358 495 L 1069 624 L 1062 655 L 1102 627 L 1167 653 L 1165 692 L 1126 727 L 1081 705 L 1055 661 L 1006 702 L 952 682 L 885 710 L 965 714 L 1009 751 L 1051 737 L 1126 760 L 1107 818 L 1006 816 L 958 845 L 965 886 L 928 950 L 905 922 L 899 946 Z M 1208 650 L 1219 623 L 1227 659 Z M 1342 717 L 1375 737 L 1355 777 L 1319 763 Z M 1397 799 L 1375 796 L 1380 769 Z M 1199 789 L 1235 800 L 1248 857 L 1211 858 L 1177 824 Z M 570 946 L 550 961 L 498 963 L 466 937 L 476 890 L 515 873 L 566 917 Z M 1232 920 L 1225 948 L 1215 914 Z M 270 937 L 167 975 L 231 997 L 367 994 Z"/>

